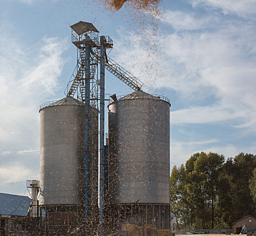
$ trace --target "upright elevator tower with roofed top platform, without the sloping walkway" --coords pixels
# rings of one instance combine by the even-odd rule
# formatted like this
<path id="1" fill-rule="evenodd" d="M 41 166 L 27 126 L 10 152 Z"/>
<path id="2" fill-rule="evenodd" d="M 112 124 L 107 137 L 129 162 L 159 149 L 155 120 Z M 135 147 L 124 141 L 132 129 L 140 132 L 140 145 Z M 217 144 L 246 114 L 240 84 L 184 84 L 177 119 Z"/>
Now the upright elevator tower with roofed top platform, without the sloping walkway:
<path id="1" fill-rule="evenodd" d="M 72 43 L 77 48 L 77 65 L 70 82 L 66 88 L 67 96 L 75 96 L 84 105 L 84 133 L 80 139 L 84 144 L 82 158 L 84 159 L 84 185 L 81 185 L 82 198 L 84 200 L 84 220 L 88 235 L 94 235 L 103 230 L 103 152 L 104 152 L 104 110 L 105 110 L 105 59 L 106 49 L 113 47 L 113 41 L 109 36 L 100 36 L 99 31 L 88 22 L 78 22 L 72 26 Z M 98 79 L 98 65 L 100 64 L 100 78 Z M 100 101 L 100 107 L 99 107 Z M 100 194 L 99 211 L 98 198 L 98 156 L 93 153 L 93 145 L 90 140 L 90 120 L 95 113 L 90 109 L 100 110 L 99 120 L 99 154 L 100 154 Z M 96 118 L 96 117 L 95 117 Z M 98 214 L 99 212 L 99 214 Z M 99 216 L 99 217 L 98 217 Z"/>

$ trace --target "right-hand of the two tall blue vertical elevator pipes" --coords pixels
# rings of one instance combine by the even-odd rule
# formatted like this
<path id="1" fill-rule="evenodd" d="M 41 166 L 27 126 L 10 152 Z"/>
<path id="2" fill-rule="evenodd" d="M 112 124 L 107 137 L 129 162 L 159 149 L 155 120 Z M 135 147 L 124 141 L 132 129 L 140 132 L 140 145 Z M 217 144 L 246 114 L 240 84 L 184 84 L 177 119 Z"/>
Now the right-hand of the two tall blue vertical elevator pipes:
<path id="1" fill-rule="evenodd" d="M 101 36 L 100 68 L 100 121 L 99 121 L 99 234 L 103 234 L 103 156 L 104 156 L 104 115 L 105 115 L 105 37 Z"/>

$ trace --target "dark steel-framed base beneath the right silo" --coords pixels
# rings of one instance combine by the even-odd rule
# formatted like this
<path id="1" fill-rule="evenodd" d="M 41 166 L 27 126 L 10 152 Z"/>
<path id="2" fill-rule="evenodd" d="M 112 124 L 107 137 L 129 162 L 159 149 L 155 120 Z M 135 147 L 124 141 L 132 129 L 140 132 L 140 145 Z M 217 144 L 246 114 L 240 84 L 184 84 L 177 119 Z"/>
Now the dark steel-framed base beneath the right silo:
<path id="1" fill-rule="evenodd" d="M 118 223 L 124 223 L 128 216 L 143 216 L 145 223 L 157 229 L 170 229 L 169 204 L 113 204 L 111 209 L 111 225 L 113 229 Z"/>

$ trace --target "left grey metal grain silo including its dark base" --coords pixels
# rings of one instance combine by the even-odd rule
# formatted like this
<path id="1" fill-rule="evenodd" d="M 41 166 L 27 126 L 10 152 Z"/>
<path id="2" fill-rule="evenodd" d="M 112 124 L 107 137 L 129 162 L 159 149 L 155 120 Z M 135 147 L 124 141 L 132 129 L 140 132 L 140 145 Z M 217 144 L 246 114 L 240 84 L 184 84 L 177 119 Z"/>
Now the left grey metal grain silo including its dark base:
<path id="1" fill-rule="evenodd" d="M 84 221 L 84 105 L 67 96 L 41 106 L 41 210 L 46 231 L 61 235 Z M 98 110 L 89 113 L 88 179 L 91 206 L 98 199 Z M 88 167 L 87 167 L 88 168 Z M 89 190 L 88 190 L 89 189 Z"/>

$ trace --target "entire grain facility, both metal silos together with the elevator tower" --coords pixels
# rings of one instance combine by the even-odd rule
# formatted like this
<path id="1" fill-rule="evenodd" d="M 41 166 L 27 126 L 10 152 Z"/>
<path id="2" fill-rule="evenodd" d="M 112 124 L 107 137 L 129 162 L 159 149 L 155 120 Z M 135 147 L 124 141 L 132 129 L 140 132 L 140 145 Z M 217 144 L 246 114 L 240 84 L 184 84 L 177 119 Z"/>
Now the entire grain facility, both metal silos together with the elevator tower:
<path id="1" fill-rule="evenodd" d="M 147 220 L 158 220 L 156 224 L 165 229 L 166 217 L 170 218 L 169 100 L 141 91 L 143 82 L 107 55 L 113 41 L 109 36 L 99 36 L 93 24 L 78 22 L 70 27 L 77 64 L 65 90 L 66 98 L 47 102 L 40 108 L 41 229 L 46 235 L 95 235 L 97 231 L 102 235 L 106 212 L 111 209 L 109 218 L 122 220 L 126 212 L 134 212 L 132 206 L 138 200 L 138 209 L 147 212 Z M 109 105 L 109 157 L 104 146 L 105 69 L 136 91 L 115 98 Z M 139 116 L 140 109 L 145 119 Z M 139 138 L 140 145 L 136 146 L 133 138 Z M 155 152 L 154 156 L 151 152 Z M 135 162 L 138 167 L 134 175 L 132 161 L 136 158 L 144 158 L 145 162 Z M 151 167 L 155 167 L 153 173 L 149 173 Z M 121 171 L 117 175 L 120 184 L 114 177 L 117 170 Z M 129 175 L 134 175 L 134 179 Z M 140 177 L 144 178 L 141 183 Z M 140 187 L 148 190 L 141 191 Z"/>

